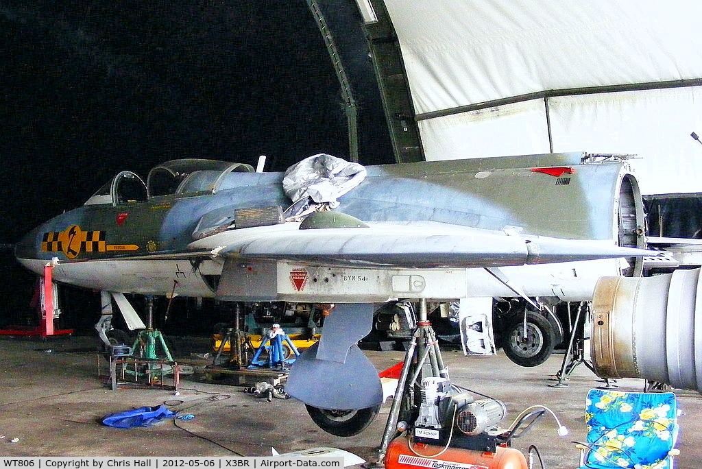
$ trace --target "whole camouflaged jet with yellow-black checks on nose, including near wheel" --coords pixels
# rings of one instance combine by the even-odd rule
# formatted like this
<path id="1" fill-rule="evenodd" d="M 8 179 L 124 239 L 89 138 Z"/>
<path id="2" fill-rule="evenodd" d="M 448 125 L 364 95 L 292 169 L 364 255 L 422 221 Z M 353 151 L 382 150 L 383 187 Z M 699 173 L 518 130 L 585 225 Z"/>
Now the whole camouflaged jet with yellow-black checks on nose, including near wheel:
<path id="1" fill-rule="evenodd" d="M 574 153 L 362 166 L 319 154 L 282 173 L 168 161 L 146 182 L 117 174 L 15 255 L 39 275 L 51 264 L 57 282 L 110 292 L 126 316 L 123 293 L 333 304 L 286 390 L 322 428 L 352 435 L 382 399 L 357 347 L 375 303 L 587 300 L 597 277 L 649 253 L 637 249 L 636 210 L 621 204 L 636 189 L 624 162 Z"/>

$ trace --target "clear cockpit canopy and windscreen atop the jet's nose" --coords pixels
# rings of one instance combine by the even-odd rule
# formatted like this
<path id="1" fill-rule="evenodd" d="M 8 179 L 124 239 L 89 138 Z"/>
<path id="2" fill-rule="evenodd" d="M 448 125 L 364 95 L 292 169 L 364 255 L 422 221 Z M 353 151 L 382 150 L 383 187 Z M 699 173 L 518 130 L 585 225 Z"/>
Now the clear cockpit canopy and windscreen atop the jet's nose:
<path id="1" fill-rule="evenodd" d="M 114 206 L 146 202 L 166 195 L 197 195 L 217 192 L 230 173 L 250 173 L 253 166 L 213 159 L 174 159 L 154 167 L 145 184 L 131 171 L 121 171 L 91 196 L 86 205 Z"/>

